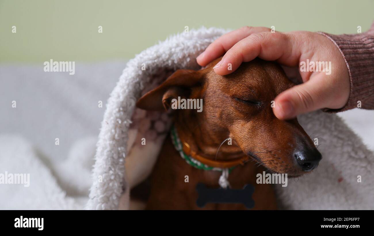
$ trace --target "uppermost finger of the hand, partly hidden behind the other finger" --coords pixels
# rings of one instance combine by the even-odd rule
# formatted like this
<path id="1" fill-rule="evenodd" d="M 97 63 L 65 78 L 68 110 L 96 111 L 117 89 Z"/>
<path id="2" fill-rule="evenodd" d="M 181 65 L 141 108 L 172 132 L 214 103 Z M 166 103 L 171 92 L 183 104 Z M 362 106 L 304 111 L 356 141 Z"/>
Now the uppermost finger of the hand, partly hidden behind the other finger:
<path id="1" fill-rule="evenodd" d="M 222 56 L 227 50 L 229 50 L 234 44 L 248 37 L 248 35 L 258 33 L 258 32 L 268 32 L 269 28 L 266 27 L 242 27 L 231 31 L 227 34 L 222 35 L 213 43 L 211 43 L 203 53 L 201 53 L 196 61 L 201 66 L 208 65 L 212 60 Z"/>

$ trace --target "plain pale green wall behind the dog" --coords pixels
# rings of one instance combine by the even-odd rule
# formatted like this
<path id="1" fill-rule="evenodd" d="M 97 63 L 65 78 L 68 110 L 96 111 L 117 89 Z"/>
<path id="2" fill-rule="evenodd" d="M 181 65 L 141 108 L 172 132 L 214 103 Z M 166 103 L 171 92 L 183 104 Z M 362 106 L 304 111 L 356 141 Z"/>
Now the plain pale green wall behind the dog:
<path id="1" fill-rule="evenodd" d="M 185 26 L 340 34 L 365 31 L 373 20 L 373 0 L 1 0 L 0 62 L 129 59 Z"/>

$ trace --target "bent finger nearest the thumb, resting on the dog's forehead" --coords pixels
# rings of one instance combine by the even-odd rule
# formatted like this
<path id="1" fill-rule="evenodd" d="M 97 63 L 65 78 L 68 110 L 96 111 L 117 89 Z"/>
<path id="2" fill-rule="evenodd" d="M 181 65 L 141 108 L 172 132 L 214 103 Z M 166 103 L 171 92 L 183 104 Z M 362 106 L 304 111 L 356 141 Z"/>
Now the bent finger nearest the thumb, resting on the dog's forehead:
<path id="1" fill-rule="evenodd" d="M 242 62 L 248 62 L 256 57 L 277 60 L 287 66 L 296 66 L 301 55 L 298 48 L 298 43 L 291 34 L 279 32 L 251 34 L 228 50 L 222 60 L 214 66 L 214 71 L 218 75 L 227 75 L 235 71 Z"/>

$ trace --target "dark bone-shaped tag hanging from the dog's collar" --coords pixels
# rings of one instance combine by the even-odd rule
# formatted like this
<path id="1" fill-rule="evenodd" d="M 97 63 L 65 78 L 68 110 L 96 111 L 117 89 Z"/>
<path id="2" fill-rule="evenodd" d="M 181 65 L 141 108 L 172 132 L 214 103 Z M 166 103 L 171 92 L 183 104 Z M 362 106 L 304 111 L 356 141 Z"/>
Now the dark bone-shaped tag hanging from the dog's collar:
<path id="1" fill-rule="evenodd" d="M 196 185 L 196 190 L 199 194 L 196 201 L 198 207 L 204 207 L 208 202 L 242 203 L 248 209 L 253 208 L 255 205 L 252 199 L 255 188 L 251 184 L 246 184 L 243 189 L 208 189 L 205 184 L 198 183 Z"/>

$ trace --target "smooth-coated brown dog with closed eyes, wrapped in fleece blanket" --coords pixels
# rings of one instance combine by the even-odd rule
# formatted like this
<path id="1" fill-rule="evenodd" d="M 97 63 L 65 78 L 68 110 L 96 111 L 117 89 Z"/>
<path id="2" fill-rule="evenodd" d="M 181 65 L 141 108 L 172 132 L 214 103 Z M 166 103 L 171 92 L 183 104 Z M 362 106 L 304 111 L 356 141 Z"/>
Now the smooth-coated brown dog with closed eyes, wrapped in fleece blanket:
<path id="1" fill-rule="evenodd" d="M 142 96 L 137 106 L 160 110 L 169 109 L 172 99 L 178 97 L 203 99 L 202 112 L 174 111 L 174 125 L 185 144 L 183 150 L 208 165 L 226 168 L 236 164 L 228 178 L 231 188 L 252 184 L 253 209 L 276 209 L 273 186 L 257 184 L 257 173 L 270 170 L 301 176 L 317 167 L 321 154 L 296 118 L 281 121 L 273 114 L 275 97 L 294 86 L 279 65 L 255 59 L 232 74 L 220 76 L 212 70 L 219 61 L 199 71 L 176 71 Z M 226 142 L 217 152 L 229 137 L 232 145 Z M 220 176 L 220 171 L 199 170 L 187 164 L 168 136 L 151 174 L 147 209 L 246 209 L 242 204 L 221 203 L 197 207 L 196 184 L 218 188 Z"/>

